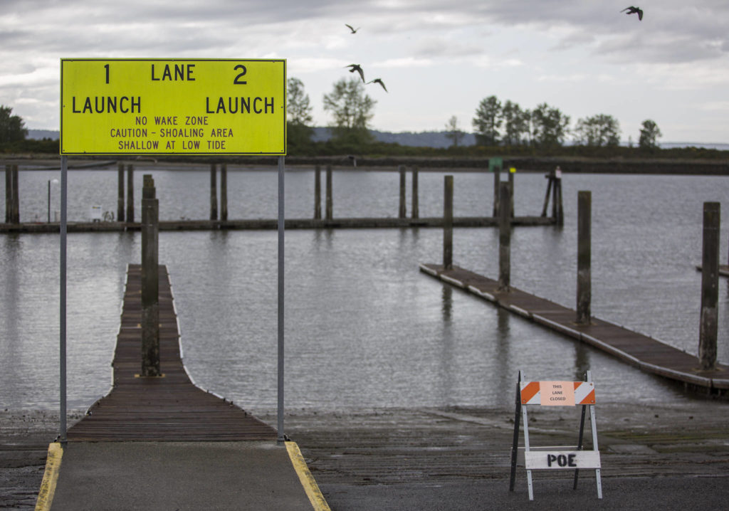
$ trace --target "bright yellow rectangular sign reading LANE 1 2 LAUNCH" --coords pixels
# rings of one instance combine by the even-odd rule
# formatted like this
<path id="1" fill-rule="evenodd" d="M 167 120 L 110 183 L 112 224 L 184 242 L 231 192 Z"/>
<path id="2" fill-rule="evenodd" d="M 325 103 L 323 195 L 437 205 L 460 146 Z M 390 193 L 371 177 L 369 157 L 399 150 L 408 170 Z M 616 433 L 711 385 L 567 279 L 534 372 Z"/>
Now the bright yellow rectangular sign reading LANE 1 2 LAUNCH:
<path id="1" fill-rule="evenodd" d="M 285 155 L 286 61 L 61 59 L 61 155 Z"/>

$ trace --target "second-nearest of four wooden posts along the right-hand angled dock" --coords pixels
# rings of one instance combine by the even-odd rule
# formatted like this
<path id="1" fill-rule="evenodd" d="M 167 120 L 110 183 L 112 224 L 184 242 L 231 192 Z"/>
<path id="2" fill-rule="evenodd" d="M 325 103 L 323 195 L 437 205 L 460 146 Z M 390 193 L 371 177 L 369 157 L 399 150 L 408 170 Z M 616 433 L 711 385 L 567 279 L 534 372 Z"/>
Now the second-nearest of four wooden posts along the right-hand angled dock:
<path id="1" fill-rule="evenodd" d="M 590 324 L 592 192 L 577 192 L 577 323 Z"/>

